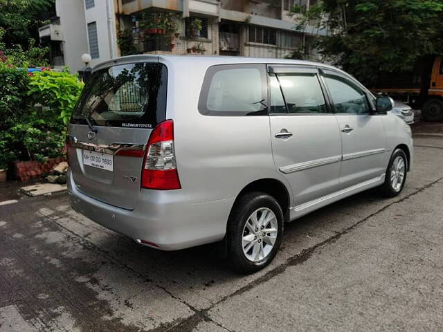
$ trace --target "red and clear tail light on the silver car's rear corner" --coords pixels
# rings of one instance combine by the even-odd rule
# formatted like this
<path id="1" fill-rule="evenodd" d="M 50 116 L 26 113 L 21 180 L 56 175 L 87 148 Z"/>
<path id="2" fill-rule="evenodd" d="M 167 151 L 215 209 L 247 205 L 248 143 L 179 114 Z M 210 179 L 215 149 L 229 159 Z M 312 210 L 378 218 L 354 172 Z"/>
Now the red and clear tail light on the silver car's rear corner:
<path id="1" fill-rule="evenodd" d="M 156 190 L 180 189 L 174 154 L 174 122 L 161 122 L 147 141 L 141 187 Z"/>

